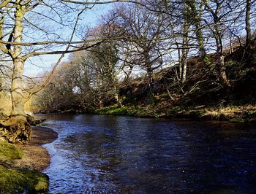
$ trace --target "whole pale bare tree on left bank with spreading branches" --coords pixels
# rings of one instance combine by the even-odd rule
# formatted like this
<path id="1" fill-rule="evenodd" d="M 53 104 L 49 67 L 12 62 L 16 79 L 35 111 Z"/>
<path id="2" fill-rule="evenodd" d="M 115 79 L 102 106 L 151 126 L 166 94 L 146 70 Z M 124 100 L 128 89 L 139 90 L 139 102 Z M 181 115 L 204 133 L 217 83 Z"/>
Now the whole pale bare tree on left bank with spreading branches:
<path id="1" fill-rule="evenodd" d="M 111 1 L 112 2 L 112 1 Z M 114 1 L 113 1 L 114 2 Z M 0 50 L 9 55 L 12 60 L 12 111 L 9 120 L 2 120 L 3 125 L 20 123 L 20 128 L 29 128 L 24 112 L 24 103 L 31 96 L 47 85 L 53 77 L 57 66 L 66 53 L 86 50 L 100 40 L 84 39 L 74 42 L 78 21 L 87 8 L 95 4 L 105 4 L 105 1 L 86 1 L 85 4 L 75 4 L 69 1 L 1 1 L 0 19 Z M 50 27 L 48 27 L 50 26 Z M 69 35 L 63 34 L 64 29 Z M 33 37 L 30 36 L 33 34 Z M 65 38 L 67 36 L 67 38 Z M 81 44 L 81 47 L 70 50 L 71 46 Z M 39 55 L 60 54 L 59 60 L 53 67 L 45 82 L 39 87 L 28 90 L 23 84 L 23 70 L 29 58 Z M 17 132 L 17 133 L 16 133 Z M 12 140 L 20 136 L 22 130 L 12 134 Z M 29 133 L 29 132 L 28 132 Z M 23 139 L 29 139 L 25 135 Z"/>

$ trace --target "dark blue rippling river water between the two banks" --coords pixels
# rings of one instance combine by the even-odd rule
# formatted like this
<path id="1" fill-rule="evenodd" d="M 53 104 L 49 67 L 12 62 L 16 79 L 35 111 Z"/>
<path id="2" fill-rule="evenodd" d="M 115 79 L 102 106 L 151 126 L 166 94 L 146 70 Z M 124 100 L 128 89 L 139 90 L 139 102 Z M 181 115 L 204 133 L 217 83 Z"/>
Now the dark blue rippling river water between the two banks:
<path id="1" fill-rule="evenodd" d="M 256 126 L 48 115 L 50 193 L 255 193 Z"/>

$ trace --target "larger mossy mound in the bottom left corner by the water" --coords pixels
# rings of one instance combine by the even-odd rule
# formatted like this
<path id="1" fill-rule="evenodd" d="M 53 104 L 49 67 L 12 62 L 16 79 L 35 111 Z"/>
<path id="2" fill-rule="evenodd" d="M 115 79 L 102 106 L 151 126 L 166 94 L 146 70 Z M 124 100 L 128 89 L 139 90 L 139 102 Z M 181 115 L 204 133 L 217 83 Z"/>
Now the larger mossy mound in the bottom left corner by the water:
<path id="1" fill-rule="evenodd" d="M 48 176 L 26 168 L 0 166 L 0 193 L 48 193 Z"/>

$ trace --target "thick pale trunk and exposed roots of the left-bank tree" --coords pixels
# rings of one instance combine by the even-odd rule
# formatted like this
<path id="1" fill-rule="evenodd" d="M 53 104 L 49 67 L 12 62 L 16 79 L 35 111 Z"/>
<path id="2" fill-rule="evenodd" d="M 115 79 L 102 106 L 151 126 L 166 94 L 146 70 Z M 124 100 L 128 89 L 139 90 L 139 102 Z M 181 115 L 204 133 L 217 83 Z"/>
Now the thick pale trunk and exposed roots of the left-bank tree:
<path id="1" fill-rule="evenodd" d="M 23 17 L 25 11 L 19 3 L 16 1 L 15 10 L 15 26 L 13 30 L 13 42 L 22 43 L 23 34 Z M 12 40 L 11 40 L 12 41 Z M 8 141 L 15 142 L 17 139 L 21 141 L 27 141 L 31 135 L 31 125 L 27 122 L 26 113 L 24 112 L 25 96 L 23 93 L 23 68 L 24 61 L 22 55 L 22 46 L 15 44 L 13 46 L 13 52 L 11 53 L 13 61 L 12 71 L 12 111 L 10 118 L 0 121 L 0 136 L 4 137 Z"/>

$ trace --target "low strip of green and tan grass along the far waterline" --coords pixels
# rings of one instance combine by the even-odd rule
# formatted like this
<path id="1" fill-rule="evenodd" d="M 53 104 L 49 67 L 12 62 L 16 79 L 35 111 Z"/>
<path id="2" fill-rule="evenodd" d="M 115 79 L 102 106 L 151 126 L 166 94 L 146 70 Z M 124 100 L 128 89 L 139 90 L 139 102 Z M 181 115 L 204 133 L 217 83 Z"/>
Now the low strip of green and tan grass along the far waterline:
<path id="1" fill-rule="evenodd" d="M 179 117 L 206 120 L 225 120 L 232 123 L 256 123 L 256 106 L 107 106 L 96 109 L 99 115 L 128 115 L 135 117 Z"/>

